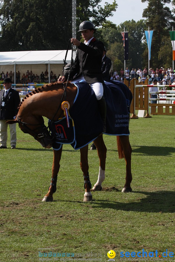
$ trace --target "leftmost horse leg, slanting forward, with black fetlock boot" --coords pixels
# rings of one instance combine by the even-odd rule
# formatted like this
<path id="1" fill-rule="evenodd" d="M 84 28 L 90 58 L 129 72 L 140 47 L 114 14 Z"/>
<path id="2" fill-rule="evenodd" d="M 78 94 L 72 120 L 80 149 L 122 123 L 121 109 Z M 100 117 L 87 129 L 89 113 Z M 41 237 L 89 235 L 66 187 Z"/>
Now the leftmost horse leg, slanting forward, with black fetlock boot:
<path id="1" fill-rule="evenodd" d="M 48 193 L 44 196 L 42 200 L 43 202 L 53 201 L 53 193 L 55 193 L 57 190 L 57 175 L 60 169 L 61 154 L 62 147 L 60 148 L 60 150 L 53 150 L 52 178 L 48 189 Z"/>

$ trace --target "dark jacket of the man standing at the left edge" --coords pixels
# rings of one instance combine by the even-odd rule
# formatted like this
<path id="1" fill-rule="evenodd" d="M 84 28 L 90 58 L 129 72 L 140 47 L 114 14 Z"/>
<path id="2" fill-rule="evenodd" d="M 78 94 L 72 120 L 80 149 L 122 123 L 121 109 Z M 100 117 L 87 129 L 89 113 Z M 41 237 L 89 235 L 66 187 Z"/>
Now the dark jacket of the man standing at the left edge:
<path id="1" fill-rule="evenodd" d="M 14 119 L 13 117 L 17 114 L 17 107 L 20 104 L 20 96 L 18 91 L 10 88 L 6 97 L 3 96 L 5 89 L 0 91 L 0 120 L 10 120 Z M 2 102 L 5 102 L 4 106 L 2 106 Z"/>

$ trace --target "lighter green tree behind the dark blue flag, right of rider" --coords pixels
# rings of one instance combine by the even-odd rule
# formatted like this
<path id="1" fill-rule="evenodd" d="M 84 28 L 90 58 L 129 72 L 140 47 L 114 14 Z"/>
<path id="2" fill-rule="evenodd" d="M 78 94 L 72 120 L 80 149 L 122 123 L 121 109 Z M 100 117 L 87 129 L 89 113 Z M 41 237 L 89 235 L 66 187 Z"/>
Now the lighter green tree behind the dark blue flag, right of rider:
<path id="1" fill-rule="evenodd" d="M 114 62 L 115 59 L 119 59 L 124 68 L 124 47 L 121 35 L 124 27 L 125 31 L 129 32 L 129 60 L 126 63 L 129 68 L 142 67 L 142 53 L 146 48 L 146 43 L 143 43 L 144 30 L 146 29 L 144 20 L 125 21 L 115 28 L 100 28 L 98 29 L 98 32 L 100 32 L 99 39 L 106 46 L 107 55 L 111 60 Z"/>

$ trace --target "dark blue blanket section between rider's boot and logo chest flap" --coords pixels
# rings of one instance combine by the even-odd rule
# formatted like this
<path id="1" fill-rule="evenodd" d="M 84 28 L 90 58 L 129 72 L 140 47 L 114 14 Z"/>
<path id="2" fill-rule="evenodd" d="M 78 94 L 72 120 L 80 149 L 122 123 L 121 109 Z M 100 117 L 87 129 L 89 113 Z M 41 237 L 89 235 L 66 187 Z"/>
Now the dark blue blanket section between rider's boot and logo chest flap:
<path id="1" fill-rule="evenodd" d="M 103 122 L 98 111 L 94 91 L 85 82 L 75 85 L 78 91 L 74 105 L 69 109 L 69 114 L 74 121 L 75 140 L 69 144 L 75 150 L 78 150 L 91 143 L 103 132 Z M 67 125 L 66 121 L 65 125 Z M 53 149 L 59 150 L 61 144 L 68 143 L 63 143 L 63 141 L 60 143 L 59 140 L 55 139 L 55 143 L 52 144 Z"/>

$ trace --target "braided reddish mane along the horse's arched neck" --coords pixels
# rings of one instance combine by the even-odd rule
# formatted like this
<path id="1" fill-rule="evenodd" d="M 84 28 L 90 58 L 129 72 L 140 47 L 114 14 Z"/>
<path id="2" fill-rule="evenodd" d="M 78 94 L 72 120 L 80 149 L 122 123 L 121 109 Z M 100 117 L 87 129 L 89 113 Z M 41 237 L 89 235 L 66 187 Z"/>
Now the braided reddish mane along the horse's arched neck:
<path id="1" fill-rule="evenodd" d="M 70 86 L 71 83 L 70 82 L 68 82 L 68 83 L 69 83 L 69 86 Z M 73 84 L 71 84 L 71 85 L 74 86 Z M 35 90 L 33 90 L 32 92 L 29 92 L 28 94 L 26 94 L 24 99 L 22 99 L 22 101 L 20 102 L 18 109 L 20 109 L 20 106 L 22 105 L 24 100 L 26 100 L 28 97 L 30 97 L 32 95 L 35 95 L 37 93 L 50 91 L 50 90 L 61 89 L 61 88 L 64 88 L 64 86 L 62 85 L 62 83 L 58 83 L 58 82 L 50 83 L 50 84 L 46 84 L 44 86 L 38 87 Z"/>

